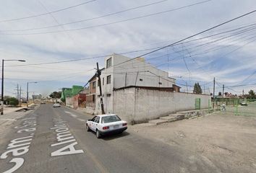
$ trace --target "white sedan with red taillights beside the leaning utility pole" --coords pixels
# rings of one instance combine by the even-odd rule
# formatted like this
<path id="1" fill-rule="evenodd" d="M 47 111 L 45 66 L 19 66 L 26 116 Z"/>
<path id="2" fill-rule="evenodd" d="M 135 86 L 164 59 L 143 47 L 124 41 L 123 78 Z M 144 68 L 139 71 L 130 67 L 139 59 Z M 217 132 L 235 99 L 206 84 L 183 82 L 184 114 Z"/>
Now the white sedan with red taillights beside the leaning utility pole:
<path id="1" fill-rule="evenodd" d="M 86 130 L 93 130 L 97 138 L 111 133 L 123 133 L 127 122 L 114 114 L 97 115 L 86 122 Z"/>

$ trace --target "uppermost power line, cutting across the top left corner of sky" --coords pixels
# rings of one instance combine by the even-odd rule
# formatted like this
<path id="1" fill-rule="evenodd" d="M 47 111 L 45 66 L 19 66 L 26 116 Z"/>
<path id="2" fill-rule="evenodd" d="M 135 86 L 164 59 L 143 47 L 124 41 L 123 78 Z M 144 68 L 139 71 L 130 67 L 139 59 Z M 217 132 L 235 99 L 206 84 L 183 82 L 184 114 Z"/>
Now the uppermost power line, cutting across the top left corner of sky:
<path id="1" fill-rule="evenodd" d="M 96 1 L 96 0 L 85 1 L 83 3 L 76 4 L 74 6 L 68 6 L 66 8 L 58 9 L 58 10 L 55 10 L 55 11 L 52 11 L 52 12 L 46 12 L 46 13 L 42 13 L 42 14 L 35 14 L 35 15 L 32 15 L 32 16 L 28 16 L 28 17 L 19 17 L 19 18 L 14 18 L 14 19 L 5 19 L 5 20 L 1 20 L 0 23 L 2 23 L 2 22 L 12 22 L 12 21 L 17 21 L 17 20 L 22 20 L 22 19 L 30 19 L 30 18 L 34 18 L 34 17 L 40 17 L 40 16 L 44 16 L 44 15 L 48 15 L 48 14 L 53 14 L 53 13 L 56 13 L 56 12 L 61 12 L 61 11 L 67 10 L 67 9 L 72 9 L 74 7 L 77 7 L 77 6 L 82 6 L 82 5 L 88 4 L 88 3 L 93 2 L 93 1 Z"/>

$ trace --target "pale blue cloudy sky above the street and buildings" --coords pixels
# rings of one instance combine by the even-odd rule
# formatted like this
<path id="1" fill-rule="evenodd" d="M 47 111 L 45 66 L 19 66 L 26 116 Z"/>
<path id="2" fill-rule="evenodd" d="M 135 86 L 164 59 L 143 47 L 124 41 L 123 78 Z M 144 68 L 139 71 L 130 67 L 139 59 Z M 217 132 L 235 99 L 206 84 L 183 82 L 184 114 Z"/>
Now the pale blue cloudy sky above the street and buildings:
<path id="1" fill-rule="evenodd" d="M 256 9 L 253 0 L 9 0 L 0 6 L 0 57 L 4 94 L 17 84 L 26 95 L 47 96 L 84 86 L 96 62 L 112 53 L 130 58 L 175 43 Z M 233 94 L 256 90 L 256 12 L 182 43 L 143 56 L 192 92 Z M 66 62 L 63 62 L 66 61 Z M 37 83 L 32 83 L 37 82 Z"/>

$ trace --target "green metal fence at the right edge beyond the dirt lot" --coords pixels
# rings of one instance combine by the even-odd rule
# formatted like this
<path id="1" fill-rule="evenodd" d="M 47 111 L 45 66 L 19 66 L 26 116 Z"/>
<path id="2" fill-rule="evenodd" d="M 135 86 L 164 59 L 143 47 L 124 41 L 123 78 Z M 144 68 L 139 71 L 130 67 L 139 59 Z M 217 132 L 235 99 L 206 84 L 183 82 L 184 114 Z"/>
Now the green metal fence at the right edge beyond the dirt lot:
<path id="1" fill-rule="evenodd" d="M 221 114 L 256 117 L 256 99 L 214 99 L 211 107 Z"/>

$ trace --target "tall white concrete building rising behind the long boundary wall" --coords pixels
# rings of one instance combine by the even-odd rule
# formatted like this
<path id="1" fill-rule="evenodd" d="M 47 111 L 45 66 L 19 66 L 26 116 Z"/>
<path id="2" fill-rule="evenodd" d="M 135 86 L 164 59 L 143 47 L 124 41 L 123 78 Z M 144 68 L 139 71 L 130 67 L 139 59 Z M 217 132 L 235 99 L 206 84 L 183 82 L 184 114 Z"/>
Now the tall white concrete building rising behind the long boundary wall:
<path id="1" fill-rule="evenodd" d="M 175 79 L 168 77 L 168 72 L 162 71 L 144 58 L 132 59 L 113 53 L 105 58 L 104 70 L 101 71 L 101 86 L 103 103 L 106 113 L 114 113 L 114 90 L 127 86 L 148 86 L 172 88 Z M 175 89 L 174 89 L 175 90 Z M 96 113 L 101 113 L 100 89 L 97 81 Z M 129 104 L 129 103 L 127 103 Z"/>

